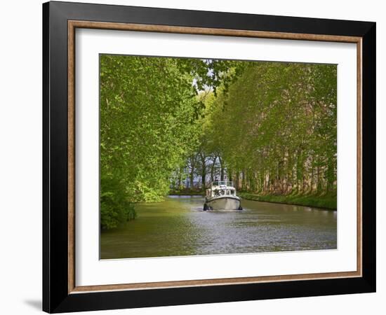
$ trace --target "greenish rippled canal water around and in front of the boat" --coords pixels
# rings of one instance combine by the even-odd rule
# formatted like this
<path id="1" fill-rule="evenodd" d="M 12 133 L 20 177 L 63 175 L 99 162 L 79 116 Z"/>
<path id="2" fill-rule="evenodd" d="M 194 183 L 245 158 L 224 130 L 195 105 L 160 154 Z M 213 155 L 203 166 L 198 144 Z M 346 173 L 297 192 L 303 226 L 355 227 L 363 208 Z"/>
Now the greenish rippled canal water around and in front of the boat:
<path id="1" fill-rule="evenodd" d="M 145 258 L 336 248 L 336 211 L 242 200 L 202 211 L 204 197 L 138 204 L 138 218 L 100 235 L 100 258 Z"/>

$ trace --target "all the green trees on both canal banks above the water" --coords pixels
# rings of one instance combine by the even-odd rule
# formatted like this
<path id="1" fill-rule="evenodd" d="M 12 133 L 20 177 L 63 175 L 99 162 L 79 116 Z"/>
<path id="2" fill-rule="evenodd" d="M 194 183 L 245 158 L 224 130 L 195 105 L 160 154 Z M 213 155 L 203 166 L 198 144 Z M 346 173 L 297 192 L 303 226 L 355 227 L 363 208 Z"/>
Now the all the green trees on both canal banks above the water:
<path id="1" fill-rule="evenodd" d="M 334 194 L 336 75 L 326 64 L 100 55 L 102 226 L 197 178 L 197 191 L 227 176 L 259 196 Z"/>

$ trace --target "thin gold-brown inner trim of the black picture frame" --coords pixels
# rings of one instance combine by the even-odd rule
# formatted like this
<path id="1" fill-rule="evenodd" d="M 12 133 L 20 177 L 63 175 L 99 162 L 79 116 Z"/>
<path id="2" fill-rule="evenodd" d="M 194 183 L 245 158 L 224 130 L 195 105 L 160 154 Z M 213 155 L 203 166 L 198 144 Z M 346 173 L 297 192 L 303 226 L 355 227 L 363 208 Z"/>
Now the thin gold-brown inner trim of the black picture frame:
<path id="1" fill-rule="evenodd" d="M 112 29 L 126 31 L 153 31 L 176 34 L 201 34 L 217 36 L 241 36 L 255 38 L 292 39 L 303 41 L 331 41 L 357 44 L 357 271 L 327 272 L 316 274 L 287 274 L 278 276 L 250 276 L 226 279 L 201 279 L 162 281 L 148 283 L 103 284 L 76 286 L 75 283 L 75 29 Z M 84 293 L 107 290 L 138 290 L 186 286 L 214 286 L 241 283 L 295 281 L 311 279 L 349 278 L 362 276 L 362 38 L 319 34 L 295 34 L 272 31 L 248 31 L 239 29 L 209 29 L 201 27 L 175 27 L 168 25 L 140 25 L 128 23 L 68 21 L 68 293 Z"/>

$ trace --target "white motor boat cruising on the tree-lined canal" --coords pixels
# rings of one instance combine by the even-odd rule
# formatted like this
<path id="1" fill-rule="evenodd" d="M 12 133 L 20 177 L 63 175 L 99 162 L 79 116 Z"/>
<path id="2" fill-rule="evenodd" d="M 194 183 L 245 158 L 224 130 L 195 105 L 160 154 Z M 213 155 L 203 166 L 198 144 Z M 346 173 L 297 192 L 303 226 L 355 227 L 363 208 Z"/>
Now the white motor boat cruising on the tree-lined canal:
<path id="1" fill-rule="evenodd" d="M 206 190 L 204 211 L 242 210 L 240 197 L 236 195 L 232 181 L 213 181 Z"/>

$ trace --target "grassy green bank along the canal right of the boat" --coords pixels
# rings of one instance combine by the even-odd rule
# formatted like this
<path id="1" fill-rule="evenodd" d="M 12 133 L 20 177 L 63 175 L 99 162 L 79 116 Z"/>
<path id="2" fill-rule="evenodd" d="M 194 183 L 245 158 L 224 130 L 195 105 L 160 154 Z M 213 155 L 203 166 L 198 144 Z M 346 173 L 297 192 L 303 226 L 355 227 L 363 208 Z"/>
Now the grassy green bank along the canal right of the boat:
<path id="1" fill-rule="evenodd" d="M 238 195 L 246 200 L 296 204 L 299 206 L 336 210 L 336 195 L 255 195 L 241 192 Z"/>

